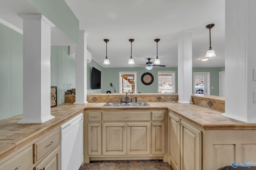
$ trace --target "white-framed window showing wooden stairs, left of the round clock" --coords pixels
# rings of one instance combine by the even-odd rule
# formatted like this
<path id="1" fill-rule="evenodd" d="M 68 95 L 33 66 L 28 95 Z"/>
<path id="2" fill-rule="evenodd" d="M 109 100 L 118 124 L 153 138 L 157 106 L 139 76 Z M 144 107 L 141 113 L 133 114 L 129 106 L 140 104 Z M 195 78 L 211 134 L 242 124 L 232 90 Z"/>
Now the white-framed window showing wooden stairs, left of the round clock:
<path id="1" fill-rule="evenodd" d="M 136 93 L 136 74 L 137 72 L 119 72 L 119 92 L 124 94 L 129 90 L 131 93 Z"/>

